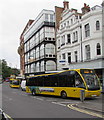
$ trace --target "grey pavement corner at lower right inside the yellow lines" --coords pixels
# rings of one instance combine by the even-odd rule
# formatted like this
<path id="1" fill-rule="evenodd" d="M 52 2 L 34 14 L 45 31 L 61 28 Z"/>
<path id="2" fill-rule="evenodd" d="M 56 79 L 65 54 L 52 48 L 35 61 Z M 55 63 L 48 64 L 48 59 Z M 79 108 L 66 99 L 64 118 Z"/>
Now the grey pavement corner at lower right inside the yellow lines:
<path id="1" fill-rule="evenodd" d="M 95 98 L 95 100 L 92 101 L 84 100 L 83 102 L 76 104 L 74 106 L 80 109 L 85 109 L 104 115 L 103 102 L 104 102 L 104 94 L 101 94 L 100 97 Z"/>

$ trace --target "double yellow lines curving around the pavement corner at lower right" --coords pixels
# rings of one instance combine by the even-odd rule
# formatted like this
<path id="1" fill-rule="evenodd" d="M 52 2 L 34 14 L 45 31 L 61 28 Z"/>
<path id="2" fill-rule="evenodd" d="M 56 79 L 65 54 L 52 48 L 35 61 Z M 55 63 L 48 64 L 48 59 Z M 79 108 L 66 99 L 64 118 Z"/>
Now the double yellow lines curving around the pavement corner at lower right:
<path id="1" fill-rule="evenodd" d="M 82 113 L 86 113 L 86 114 L 92 115 L 92 116 L 96 116 L 96 117 L 99 117 L 99 118 L 104 118 L 104 116 L 102 116 L 100 114 L 97 114 L 97 113 L 94 113 L 94 112 L 90 112 L 90 111 L 87 111 L 87 110 L 83 110 L 83 109 L 79 109 L 77 107 L 73 107 L 73 105 L 75 105 L 75 104 L 69 104 L 69 105 L 67 105 L 67 107 L 70 108 L 70 109 L 82 112 Z"/>

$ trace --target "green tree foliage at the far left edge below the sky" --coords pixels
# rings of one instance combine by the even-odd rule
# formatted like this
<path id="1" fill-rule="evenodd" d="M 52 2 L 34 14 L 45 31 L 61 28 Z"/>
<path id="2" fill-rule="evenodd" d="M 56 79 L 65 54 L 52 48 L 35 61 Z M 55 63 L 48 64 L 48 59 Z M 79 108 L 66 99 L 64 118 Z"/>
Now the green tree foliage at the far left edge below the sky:
<path id="1" fill-rule="evenodd" d="M 18 75 L 19 74 L 19 70 L 16 68 L 11 68 L 7 65 L 7 62 L 3 59 L 0 60 L 1 64 L 0 64 L 0 68 L 2 68 L 0 74 L 2 74 L 3 79 L 10 77 L 10 75 Z"/>

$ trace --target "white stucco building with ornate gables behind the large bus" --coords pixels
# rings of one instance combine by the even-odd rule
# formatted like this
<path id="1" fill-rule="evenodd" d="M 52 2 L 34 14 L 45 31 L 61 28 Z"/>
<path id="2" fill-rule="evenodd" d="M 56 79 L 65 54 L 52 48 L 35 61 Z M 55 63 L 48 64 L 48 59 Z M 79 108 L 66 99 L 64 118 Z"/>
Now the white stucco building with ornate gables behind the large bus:
<path id="1" fill-rule="evenodd" d="M 102 6 L 90 8 L 84 4 L 82 13 L 67 6 L 61 14 L 56 34 L 57 69 L 92 68 L 102 76 Z"/>

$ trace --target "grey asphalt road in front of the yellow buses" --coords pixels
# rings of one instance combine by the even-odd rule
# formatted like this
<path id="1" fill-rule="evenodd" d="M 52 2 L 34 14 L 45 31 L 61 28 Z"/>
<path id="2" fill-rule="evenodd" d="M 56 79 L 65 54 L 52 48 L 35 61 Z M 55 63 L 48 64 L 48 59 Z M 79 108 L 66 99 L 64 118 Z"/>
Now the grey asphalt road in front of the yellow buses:
<path id="1" fill-rule="evenodd" d="M 72 110 L 68 104 L 79 103 L 79 99 L 62 99 L 53 96 L 32 96 L 20 89 L 2 84 L 2 108 L 11 118 L 97 118 Z"/>

